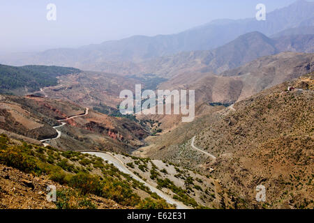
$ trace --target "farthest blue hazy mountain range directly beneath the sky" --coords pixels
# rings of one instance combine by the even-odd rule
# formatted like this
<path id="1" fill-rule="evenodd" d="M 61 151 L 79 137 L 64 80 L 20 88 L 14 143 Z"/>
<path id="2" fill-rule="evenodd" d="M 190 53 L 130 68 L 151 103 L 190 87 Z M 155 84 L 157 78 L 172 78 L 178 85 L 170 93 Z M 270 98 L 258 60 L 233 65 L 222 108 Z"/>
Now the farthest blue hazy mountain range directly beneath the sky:
<path id="1" fill-rule="evenodd" d="M 73 66 L 82 70 L 120 71 L 116 73 L 121 74 L 124 70 L 132 68 L 133 63 L 178 52 L 214 49 L 252 31 L 271 36 L 285 29 L 313 26 L 313 12 L 313 2 L 299 0 L 268 13 L 266 21 L 257 21 L 255 18 L 218 20 L 168 36 L 133 36 L 78 49 L 50 49 L 35 54 L 6 55 L 1 57 L 1 63 L 15 66 L 53 64 Z M 124 70 L 117 70 L 121 66 Z"/>

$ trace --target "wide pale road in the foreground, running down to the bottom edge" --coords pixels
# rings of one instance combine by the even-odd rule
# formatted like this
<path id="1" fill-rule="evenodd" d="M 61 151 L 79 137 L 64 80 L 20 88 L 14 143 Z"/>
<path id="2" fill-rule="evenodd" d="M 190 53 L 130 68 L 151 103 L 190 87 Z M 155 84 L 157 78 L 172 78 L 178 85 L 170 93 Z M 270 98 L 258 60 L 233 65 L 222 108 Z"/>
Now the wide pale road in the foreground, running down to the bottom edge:
<path id="1" fill-rule="evenodd" d="M 188 206 L 185 206 L 183 203 L 174 201 L 174 199 L 172 199 L 172 197 L 170 197 L 169 195 L 165 194 L 161 190 L 158 190 L 156 187 L 150 185 L 149 183 L 145 182 L 144 180 L 142 180 L 141 178 L 133 174 L 133 172 L 131 172 L 124 165 L 124 162 L 119 160 L 117 157 L 114 157 L 114 155 L 112 155 L 111 153 L 100 153 L 100 152 L 82 152 L 82 153 L 88 153 L 89 155 L 96 155 L 97 157 L 100 157 L 103 160 L 106 160 L 110 164 L 113 164 L 114 167 L 117 167 L 117 169 L 119 169 L 119 171 L 123 172 L 124 174 L 130 175 L 132 178 L 139 181 L 140 183 L 144 183 L 145 186 L 149 187 L 151 192 L 156 192 L 156 194 L 158 194 L 159 197 L 165 199 L 167 203 L 175 204 L 177 206 L 177 209 L 190 209 Z"/>

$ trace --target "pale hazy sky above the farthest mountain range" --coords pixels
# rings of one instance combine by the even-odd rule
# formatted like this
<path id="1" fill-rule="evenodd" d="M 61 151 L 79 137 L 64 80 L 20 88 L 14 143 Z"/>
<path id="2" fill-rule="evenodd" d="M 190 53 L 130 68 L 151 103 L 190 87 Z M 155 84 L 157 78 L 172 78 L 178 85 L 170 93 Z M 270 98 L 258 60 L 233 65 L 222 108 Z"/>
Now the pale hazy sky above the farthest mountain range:
<path id="1" fill-rule="evenodd" d="M 211 20 L 255 17 L 296 0 L 0 0 L 0 53 L 78 47 L 133 35 L 155 36 Z M 48 3 L 57 21 L 47 21 Z"/>

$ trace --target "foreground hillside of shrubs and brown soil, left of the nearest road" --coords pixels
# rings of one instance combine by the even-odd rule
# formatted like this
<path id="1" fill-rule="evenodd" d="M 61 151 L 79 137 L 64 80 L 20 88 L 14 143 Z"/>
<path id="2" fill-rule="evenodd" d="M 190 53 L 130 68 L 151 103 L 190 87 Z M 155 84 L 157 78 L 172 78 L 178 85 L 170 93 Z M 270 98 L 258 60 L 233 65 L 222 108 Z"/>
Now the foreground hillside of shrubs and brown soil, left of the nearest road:
<path id="1" fill-rule="evenodd" d="M 57 188 L 48 202 L 47 186 Z M 140 194 L 140 195 L 139 195 Z M 0 135 L 0 208 L 172 208 L 102 159 Z"/>

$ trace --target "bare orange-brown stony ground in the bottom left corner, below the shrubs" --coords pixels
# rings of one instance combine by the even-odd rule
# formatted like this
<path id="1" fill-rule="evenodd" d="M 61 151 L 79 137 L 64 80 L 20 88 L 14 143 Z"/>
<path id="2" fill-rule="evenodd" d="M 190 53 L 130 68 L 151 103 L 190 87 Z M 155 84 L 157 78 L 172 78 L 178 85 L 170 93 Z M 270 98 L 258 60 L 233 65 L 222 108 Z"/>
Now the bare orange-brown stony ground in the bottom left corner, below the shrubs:
<path id="1" fill-rule="evenodd" d="M 67 199 L 70 200 L 68 208 L 130 208 L 128 206 L 121 206 L 110 199 L 104 199 L 95 195 L 89 195 L 84 198 L 79 196 L 79 193 L 71 191 L 69 187 L 49 180 L 47 176 L 32 176 L 18 169 L 0 164 L 0 209 L 56 209 L 58 206 L 61 208 L 61 202 L 58 202 L 56 205 L 56 203 L 47 201 L 48 185 L 55 185 L 60 192 L 68 191 Z M 90 203 L 90 206 L 82 205 L 82 201 L 87 201 L 87 203 Z"/>

